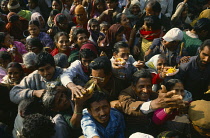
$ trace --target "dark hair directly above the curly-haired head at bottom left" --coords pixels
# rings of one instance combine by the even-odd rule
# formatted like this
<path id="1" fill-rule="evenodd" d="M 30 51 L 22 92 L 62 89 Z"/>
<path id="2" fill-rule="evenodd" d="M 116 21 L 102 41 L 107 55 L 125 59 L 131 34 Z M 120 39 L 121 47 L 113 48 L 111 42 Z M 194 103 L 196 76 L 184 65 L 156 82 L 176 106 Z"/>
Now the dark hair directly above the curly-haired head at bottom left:
<path id="1" fill-rule="evenodd" d="M 24 99 L 18 105 L 18 112 L 22 113 L 21 117 L 23 118 L 30 114 L 42 113 L 42 103 L 39 102 L 37 99 Z"/>

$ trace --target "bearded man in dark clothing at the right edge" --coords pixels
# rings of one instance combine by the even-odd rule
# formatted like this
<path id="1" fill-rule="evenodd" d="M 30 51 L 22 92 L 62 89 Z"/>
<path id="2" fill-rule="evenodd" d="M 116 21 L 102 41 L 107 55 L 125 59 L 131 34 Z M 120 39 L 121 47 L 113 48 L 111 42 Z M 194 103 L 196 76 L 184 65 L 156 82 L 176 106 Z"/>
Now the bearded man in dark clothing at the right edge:
<path id="1" fill-rule="evenodd" d="M 180 65 L 175 77 L 182 80 L 184 88 L 192 93 L 193 100 L 209 99 L 204 92 L 210 83 L 210 39 L 200 46 L 199 55 Z"/>

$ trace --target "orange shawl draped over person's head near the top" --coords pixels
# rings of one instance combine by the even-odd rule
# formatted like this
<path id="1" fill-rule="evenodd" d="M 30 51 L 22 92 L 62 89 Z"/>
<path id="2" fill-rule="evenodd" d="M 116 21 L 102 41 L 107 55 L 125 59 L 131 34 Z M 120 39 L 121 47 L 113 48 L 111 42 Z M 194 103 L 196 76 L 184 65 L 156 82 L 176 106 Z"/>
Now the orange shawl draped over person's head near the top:
<path id="1" fill-rule="evenodd" d="M 82 5 L 77 5 L 77 7 L 75 8 L 75 15 L 77 15 L 77 14 L 83 14 L 83 20 L 82 21 L 80 21 L 80 20 L 78 20 L 78 18 L 76 17 L 76 22 L 78 23 L 78 24 L 86 24 L 87 23 L 87 12 L 85 11 L 85 8 L 84 8 L 84 6 L 82 6 Z"/>

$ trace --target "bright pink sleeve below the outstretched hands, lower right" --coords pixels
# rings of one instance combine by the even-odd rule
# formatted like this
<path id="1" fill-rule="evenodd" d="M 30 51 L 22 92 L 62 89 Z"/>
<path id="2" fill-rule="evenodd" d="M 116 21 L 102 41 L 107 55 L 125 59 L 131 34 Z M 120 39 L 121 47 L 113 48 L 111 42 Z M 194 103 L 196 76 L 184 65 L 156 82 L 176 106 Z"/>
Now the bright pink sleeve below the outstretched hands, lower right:
<path id="1" fill-rule="evenodd" d="M 152 121 L 156 125 L 161 125 L 167 120 L 173 120 L 175 116 L 178 114 L 178 111 L 173 111 L 171 114 L 167 114 L 164 111 L 164 108 L 157 109 L 152 117 Z"/>

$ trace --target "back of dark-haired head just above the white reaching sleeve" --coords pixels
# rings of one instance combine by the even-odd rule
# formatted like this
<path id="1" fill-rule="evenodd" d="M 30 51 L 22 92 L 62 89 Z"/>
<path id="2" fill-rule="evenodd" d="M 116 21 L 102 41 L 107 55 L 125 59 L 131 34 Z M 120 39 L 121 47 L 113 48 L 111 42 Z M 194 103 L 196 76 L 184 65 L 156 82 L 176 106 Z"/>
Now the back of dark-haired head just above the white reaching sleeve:
<path id="1" fill-rule="evenodd" d="M 69 66 L 68 57 L 64 53 L 58 53 L 54 56 L 55 65 L 61 68 L 66 68 Z"/>

